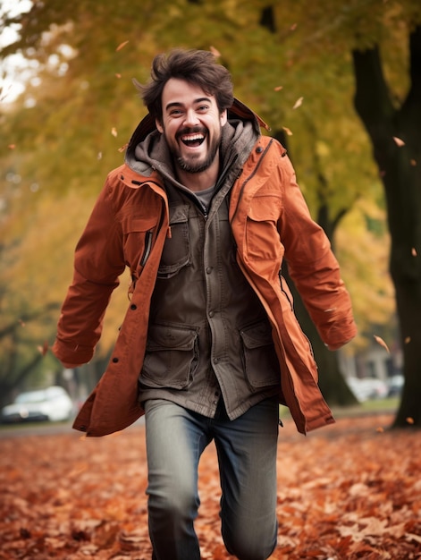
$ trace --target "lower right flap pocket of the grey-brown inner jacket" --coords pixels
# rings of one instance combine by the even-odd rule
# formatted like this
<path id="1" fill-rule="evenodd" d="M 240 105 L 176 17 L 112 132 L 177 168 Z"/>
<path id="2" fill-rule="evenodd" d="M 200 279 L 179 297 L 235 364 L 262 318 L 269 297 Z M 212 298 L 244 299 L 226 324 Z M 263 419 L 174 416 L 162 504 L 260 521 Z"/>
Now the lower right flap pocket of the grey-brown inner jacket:
<path id="1" fill-rule="evenodd" d="M 280 384 L 279 361 L 274 350 L 271 327 L 260 322 L 240 330 L 244 369 L 251 387 Z"/>

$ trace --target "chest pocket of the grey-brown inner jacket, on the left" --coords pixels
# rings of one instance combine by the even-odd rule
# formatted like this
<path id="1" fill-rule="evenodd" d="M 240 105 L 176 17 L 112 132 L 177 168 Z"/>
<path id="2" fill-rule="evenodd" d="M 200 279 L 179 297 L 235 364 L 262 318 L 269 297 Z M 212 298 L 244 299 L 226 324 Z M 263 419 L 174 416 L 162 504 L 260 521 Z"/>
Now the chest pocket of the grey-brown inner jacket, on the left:
<path id="1" fill-rule="evenodd" d="M 189 205 L 170 206 L 171 237 L 164 242 L 158 278 L 171 278 L 190 263 Z"/>

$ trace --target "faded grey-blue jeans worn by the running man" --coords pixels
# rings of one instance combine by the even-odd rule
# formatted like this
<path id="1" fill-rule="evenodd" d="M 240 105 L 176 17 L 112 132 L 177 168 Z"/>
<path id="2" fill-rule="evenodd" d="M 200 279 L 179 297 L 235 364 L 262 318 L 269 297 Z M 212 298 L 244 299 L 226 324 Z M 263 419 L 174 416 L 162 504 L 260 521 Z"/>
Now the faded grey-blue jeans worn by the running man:
<path id="1" fill-rule="evenodd" d="M 148 522 L 154 560 L 200 560 L 198 462 L 215 440 L 222 535 L 240 560 L 265 560 L 274 551 L 278 403 L 270 398 L 237 420 L 223 406 L 214 419 L 162 399 L 145 403 Z"/>

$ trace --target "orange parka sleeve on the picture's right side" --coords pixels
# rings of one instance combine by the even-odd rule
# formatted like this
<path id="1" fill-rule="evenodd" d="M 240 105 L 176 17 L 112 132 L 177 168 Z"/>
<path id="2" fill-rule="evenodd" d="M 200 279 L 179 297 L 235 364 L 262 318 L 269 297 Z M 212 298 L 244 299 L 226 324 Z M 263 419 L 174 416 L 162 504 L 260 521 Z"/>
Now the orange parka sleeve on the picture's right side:
<path id="1" fill-rule="evenodd" d="M 357 334 L 349 293 L 324 230 L 310 216 L 288 157 L 282 157 L 280 172 L 279 226 L 290 278 L 324 344 L 336 350 Z"/>

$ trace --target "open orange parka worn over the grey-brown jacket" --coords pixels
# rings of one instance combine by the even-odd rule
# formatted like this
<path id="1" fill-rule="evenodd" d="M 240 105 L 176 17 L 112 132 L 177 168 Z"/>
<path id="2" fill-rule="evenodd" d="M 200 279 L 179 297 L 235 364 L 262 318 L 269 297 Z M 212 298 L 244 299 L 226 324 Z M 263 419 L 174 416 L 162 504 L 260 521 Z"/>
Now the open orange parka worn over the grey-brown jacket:
<path id="1" fill-rule="evenodd" d="M 257 123 L 257 116 L 238 101 L 230 114 Z M 144 121 L 143 137 L 152 126 L 150 118 Z M 232 185 L 229 216 L 237 261 L 273 327 L 282 401 L 301 433 L 329 424 L 334 420 L 317 386 L 311 346 L 280 274 L 284 255 L 325 344 L 341 347 L 356 334 L 356 326 L 330 243 L 309 215 L 286 150 L 273 138 L 259 135 Z M 92 358 L 111 293 L 125 267 L 130 267 L 131 301 L 114 352 L 73 424 L 88 436 L 126 428 L 143 413 L 138 378 L 147 344 L 149 303 L 167 236 L 171 236 L 168 200 L 159 174 L 144 176 L 127 164 L 114 169 L 76 248 L 73 281 L 53 346 L 67 367 Z"/>

